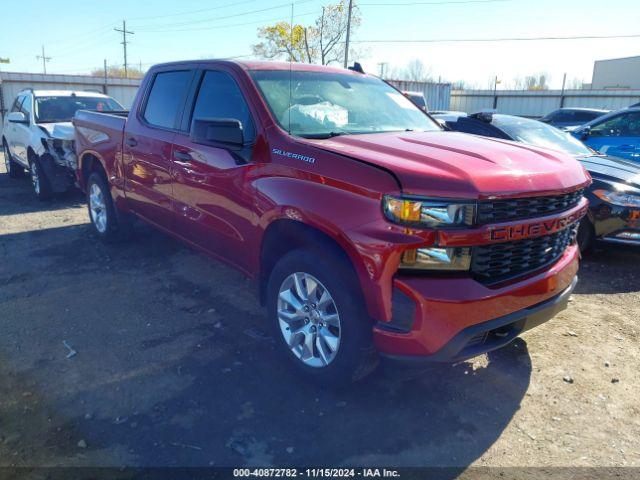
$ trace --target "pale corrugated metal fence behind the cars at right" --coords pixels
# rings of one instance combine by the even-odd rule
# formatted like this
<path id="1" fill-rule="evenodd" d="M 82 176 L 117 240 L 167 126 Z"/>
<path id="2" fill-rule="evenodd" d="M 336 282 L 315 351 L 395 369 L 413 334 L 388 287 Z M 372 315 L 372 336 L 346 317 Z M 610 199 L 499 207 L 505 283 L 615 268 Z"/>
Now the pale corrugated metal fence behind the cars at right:
<path id="1" fill-rule="evenodd" d="M 541 117 L 564 107 L 618 110 L 640 102 L 640 90 L 498 90 L 496 110 L 500 113 Z M 451 110 L 472 113 L 494 107 L 492 90 L 454 90 Z"/>

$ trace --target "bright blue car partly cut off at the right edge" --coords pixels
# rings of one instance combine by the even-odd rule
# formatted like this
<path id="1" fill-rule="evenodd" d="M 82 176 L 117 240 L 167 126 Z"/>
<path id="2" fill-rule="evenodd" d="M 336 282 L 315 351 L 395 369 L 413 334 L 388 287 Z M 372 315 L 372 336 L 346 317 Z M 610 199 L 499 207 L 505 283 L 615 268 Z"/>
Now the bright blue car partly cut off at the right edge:
<path id="1" fill-rule="evenodd" d="M 640 108 L 603 115 L 571 132 L 600 153 L 640 162 Z"/>

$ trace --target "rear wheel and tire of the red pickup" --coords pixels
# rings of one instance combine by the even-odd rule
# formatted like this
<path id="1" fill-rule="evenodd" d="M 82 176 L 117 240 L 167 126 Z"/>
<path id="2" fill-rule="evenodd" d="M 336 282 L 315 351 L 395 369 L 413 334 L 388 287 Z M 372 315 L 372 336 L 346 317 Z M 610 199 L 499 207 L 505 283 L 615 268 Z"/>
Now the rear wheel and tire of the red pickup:
<path id="1" fill-rule="evenodd" d="M 87 208 L 93 233 L 103 242 L 126 240 L 131 235 L 132 223 L 118 215 L 101 172 L 93 172 L 87 180 Z"/>

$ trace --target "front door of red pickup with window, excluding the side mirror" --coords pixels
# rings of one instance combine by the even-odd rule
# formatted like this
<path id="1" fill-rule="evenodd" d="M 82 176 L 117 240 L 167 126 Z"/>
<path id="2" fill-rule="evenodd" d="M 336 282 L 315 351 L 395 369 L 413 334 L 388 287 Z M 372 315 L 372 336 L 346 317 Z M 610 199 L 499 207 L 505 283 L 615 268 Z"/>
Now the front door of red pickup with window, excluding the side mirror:
<path id="1" fill-rule="evenodd" d="M 199 72 L 193 108 L 173 147 L 173 208 L 180 234 L 199 247 L 247 269 L 245 242 L 255 230 L 254 196 L 247 180 L 256 138 L 249 105 L 234 77 L 223 70 Z M 236 119 L 244 130 L 244 156 L 225 148 L 193 143 L 193 119 Z"/>

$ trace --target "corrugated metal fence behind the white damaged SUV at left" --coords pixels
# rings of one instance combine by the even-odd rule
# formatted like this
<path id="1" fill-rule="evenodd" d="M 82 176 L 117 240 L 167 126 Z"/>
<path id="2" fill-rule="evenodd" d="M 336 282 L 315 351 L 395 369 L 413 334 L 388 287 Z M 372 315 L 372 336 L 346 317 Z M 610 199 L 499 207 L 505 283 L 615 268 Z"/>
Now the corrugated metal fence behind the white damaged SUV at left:
<path id="1" fill-rule="evenodd" d="M 0 119 L 11 108 L 18 93 L 26 88 L 34 90 L 87 90 L 106 93 L 125 108 L 131 107 L 140 80 L 86 75 L 43 75 L 40 73 L 0 72 Z M 2 123 L 0 123 L 0 134 Z"/>

